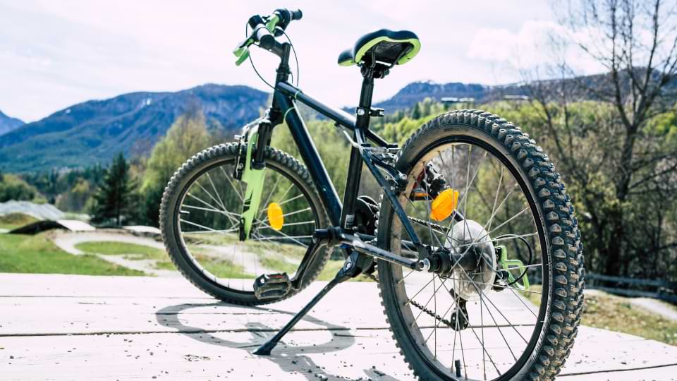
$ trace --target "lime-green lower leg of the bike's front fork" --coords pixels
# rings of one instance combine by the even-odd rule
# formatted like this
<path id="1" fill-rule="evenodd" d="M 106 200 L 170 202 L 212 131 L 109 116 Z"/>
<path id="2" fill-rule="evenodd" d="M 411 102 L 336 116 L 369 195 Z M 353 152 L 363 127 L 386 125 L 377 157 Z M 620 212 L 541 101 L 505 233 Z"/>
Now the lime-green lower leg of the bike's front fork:
<path id="1" fill-rule="evenodd" d="M 252 128 L 247 141 L 245 168 L 242 171 L 242 181 L 247 183 L 247 189 L 245 190 L 245 200 L 242 205 L 242 213 L 240 214 L 240 241 L 249 239 L 252 224 L 261 205 L 261 193 L 263 192 L 266 169 L 252 168 L 252 154 L 255 150 L 258 137 L 258 126 L 256 126 Z"/>

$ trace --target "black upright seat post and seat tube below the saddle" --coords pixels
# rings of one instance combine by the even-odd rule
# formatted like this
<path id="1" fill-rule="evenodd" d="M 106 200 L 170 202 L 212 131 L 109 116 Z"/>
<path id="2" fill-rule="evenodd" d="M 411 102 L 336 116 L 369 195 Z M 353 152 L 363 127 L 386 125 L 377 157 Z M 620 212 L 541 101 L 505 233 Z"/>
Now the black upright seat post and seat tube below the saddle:
<path id="1" fill-rule="evenodd" d="M 370 109 L 372 107 L 372 94 L 374 92 L 374 78 L 365 75 L 362 80 L 360 103 L 355 119 L 356 133 L 365 133 L 369 129 Z M 343 194 L 343 210 L 341 210 L 341 226 L 344 229 L 352 229 L 355 221 L 355 205 L 357 205 L 358 193 L 360 192 L 360 180 L 362 177 L 362 155 L 360 150 L 353 147 L 350 150 L 350 162 L 348 164 L 348 179 L 346 179 L 346 193 Z"/>

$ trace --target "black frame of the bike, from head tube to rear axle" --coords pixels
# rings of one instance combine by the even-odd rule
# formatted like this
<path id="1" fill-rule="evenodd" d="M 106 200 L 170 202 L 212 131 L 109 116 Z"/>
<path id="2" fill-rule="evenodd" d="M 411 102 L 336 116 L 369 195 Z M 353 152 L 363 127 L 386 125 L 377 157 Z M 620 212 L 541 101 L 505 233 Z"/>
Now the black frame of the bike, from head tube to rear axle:
<path id="1" fill-rule="evenodd" d="M 360 177 L 362 175 L 362 163 L 367 165 L 377 182 L 382 186 L 384 195 L 389 199 L 394 207 L 396 214 L 402 222 L 403 228 L 411 238 L 410 248 L 415 248 L 419 253 L 419 258 L 425 258 L 428 255 L 427 249 L 422 245 L 412 224 L 410 224 L 406 213 L 401 207 L 397 197 L 397 191 L 403 190 L 402 184 L 406 185 L 406 176 L 394 169 L 393 166 L 385 164 L 381 159 L 374 157 L 372 151 L 374 147 L 380 147 L 382 152 L 396 150 L 397 145 L 391 145 L 376 133 L 370 131 L 370 116 L 374 115 L 372 109 L 372 91 L 374 87 L 374 73 L 376 78 L 382 78 L 382 68 L 374 67 L 362 68 L 362 91 L 360 92 L 360 101 L 357 109 L 357 117 L 353 117 L 345 111 L 334 109 L 322 102 L 306 95 L 302 90 L 291 83 L 288 83 L 290 75 L 288 59 L 289 44 L 276 44 L 271 52 L 281 58 L 277 68 L 277 78 L 275 91 L 273 94 L 272 106 L 267 112 L 268 121 L 259 126 L 259 138 L 257 140 L 256 152 L 254 154 L 255 165 L 263 164 L 263 152 L 270 144 L 272 129 L 279 124 L 286 122 L 291 135 L 298 146 L 300 155 L 310 172 L 315 186 L 319 191 L 322 203 L 329 214 L 329 219 L 333 226 L 339 227 L 340 231 L 352 234 L 353 219 L 355 215 L 356 202 L 358 199 Z M 346 179 L 346 193 L 343 195 L 343 202 L 336 192 L 334 183 L 331 182 L 327 168 L 324 167 L 322 159 L 319 157 L 315 143 L 310 138 L 303 119 L 298 113 L 296 102 L 301 102 L 311 109 L 326 116 L 336 123 L 336 127 L 343 129 L 344 132 L 352 135 L 350 142 L 353 147 L 350 150 L 350 162 L 348 164 L 348 179 Z M 377 113 L 378 114 L 378 113 Z M 371 142 L 368 143 L 368 142 Z M 377 169 L 377 165 L 390 175 L 391 179 L 386 179 L 384 174 Z M 399 185 L 398 185 L 399 184 Z M 343 230 L 345 229 L 345 231 Z M 394 258 L 389 258 L 392 262 L 404 264 L 412 267 L 411 260 L 391 254 Z"/>

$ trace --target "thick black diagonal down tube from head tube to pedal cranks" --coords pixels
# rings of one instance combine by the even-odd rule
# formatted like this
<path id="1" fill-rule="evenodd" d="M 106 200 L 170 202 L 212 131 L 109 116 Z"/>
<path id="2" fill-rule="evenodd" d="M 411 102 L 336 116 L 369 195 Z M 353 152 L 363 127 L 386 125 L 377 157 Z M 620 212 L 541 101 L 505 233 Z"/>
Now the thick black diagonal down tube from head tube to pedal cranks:
<path id="1" fill-rule="evenodd" d="M 315 143 L 312 143 L 308 129 L 305 127 L 303 119 L 298 115 L 296 105 L 291 99 L 288 99 L 288 97 L 279 97 L 277 101 L 280 109 L 285 110 L 284 119 L 298 146 L 301 157 L 303 157 L 303 162 L 305 162 L 305 166 L 308 168 L 312 180 L 315 181 L 319 197 L 322 198 L 322 203 L 324 203 L 324 207 L 327 208 L 327 213 L 329 213 L 331 224 L 339 226 L 339 220 L 341 219 L 341 200 L 338 198 L 334 183 L 331 183 L 331 179 L 329 179 L 327 168 L 324 167 L 324 163 L 322 163 L 322 159 L 320 159 L 319 154 L 317 153 Z"/>

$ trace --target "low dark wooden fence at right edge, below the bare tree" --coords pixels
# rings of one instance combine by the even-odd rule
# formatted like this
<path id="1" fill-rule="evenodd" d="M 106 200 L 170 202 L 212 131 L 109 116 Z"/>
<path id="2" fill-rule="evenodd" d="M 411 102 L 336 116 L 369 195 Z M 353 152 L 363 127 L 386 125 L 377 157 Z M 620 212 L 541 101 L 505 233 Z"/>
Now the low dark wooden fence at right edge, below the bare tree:
<path id="1" fill-rule="evenodd" d="M 664 280 L 585 274 L 585 288 L 623 296 L 642 296 L 677 303 L 677 283 Z"/>

